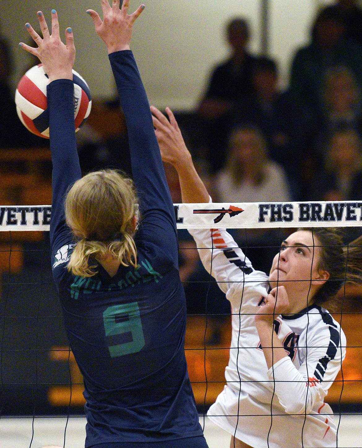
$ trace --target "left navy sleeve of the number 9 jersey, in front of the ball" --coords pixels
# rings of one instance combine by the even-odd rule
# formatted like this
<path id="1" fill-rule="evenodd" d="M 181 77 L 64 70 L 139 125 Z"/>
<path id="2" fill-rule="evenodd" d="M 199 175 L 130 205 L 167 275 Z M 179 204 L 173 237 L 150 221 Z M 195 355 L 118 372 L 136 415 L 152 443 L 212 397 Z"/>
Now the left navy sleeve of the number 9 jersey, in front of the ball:
<path id="1" fill-rule="evenodd" d="M 72 240 L 65 224 L 64 200 L 67 190 L 81 177 L 74 128 L 74 85 L 69 79 L 57 79 L 47 87 L 49 136 L 52 153 L 52 254 Z"/>

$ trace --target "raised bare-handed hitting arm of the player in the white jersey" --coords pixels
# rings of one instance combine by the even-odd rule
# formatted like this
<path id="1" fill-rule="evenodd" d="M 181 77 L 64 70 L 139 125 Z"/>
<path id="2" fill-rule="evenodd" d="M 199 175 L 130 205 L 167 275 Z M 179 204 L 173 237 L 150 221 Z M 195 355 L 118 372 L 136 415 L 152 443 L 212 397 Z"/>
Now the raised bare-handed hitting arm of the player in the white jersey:
<path id="1" fill-rule="evenodd" d="M 179 173 L 183 202 L 209 202 L 209 193 L 196 172 L 174 114 L 166 108 L 169 116 L 167 120 L 154 106 L 151 106 L 151 111 L 162 159 L 173 165 Z M 249 286 L 255 289 L 256 284 L 264 284 L 267 281 L 263 272 L 254 271 L 249 259 L 226 230 L 189 229 L 189 232 L 196 242 L 206 271 L 215 278 L 224 293 L 233 285 L 238 285 L 243 293 Z M 233 306 L 240 306 L 242 293 L 234 295 L 238 303 Z M 231 300 L 231 295 L 227 297 Z"/>

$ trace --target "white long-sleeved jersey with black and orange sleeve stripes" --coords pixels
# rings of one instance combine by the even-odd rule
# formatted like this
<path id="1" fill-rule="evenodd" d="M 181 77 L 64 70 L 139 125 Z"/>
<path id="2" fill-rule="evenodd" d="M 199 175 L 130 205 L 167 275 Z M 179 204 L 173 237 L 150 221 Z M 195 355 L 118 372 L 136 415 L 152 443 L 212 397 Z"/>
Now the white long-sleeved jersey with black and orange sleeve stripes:
<path id="1" fill-rule="evenodd" d="M 232 312 L 227 386 L 209 418 L 253 447 L 336 447 L 337 428 L 324 398 L 345 358 L 340 325 L 314 305 L 278 316 L 275 331 L 288 357 L 268 370 L 254 320 L 269 291 L 268 276 L 253 269 L 225 230 L 189 232 Z"/>

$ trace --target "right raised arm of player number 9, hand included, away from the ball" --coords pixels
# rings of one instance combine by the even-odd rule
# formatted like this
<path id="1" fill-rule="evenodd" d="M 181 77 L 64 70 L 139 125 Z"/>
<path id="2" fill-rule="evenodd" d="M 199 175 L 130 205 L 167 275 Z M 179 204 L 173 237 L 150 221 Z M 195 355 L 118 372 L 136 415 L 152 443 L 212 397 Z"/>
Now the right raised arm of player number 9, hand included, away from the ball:
<path id="1" fill-rule="evenodd" d="M 151 209 L 165 210 L 175 229 L 174 208 L 168 190 L 160 150 L 153 129 L 148 99 L 140 73 L 130 51 L 133 24 L 144 9 L 141 5 L 133 14 L 127 13 L 129 0 L 119 9 L 119 0 L 101 0 L 103 21 L 93 11 L 91 15 L 97 34 L 104 41 L 126 118 L 131 152 L 133 179 L 138 190 L 143 215 Z M 175 230 L 174 230 L 175 232 Z"/>

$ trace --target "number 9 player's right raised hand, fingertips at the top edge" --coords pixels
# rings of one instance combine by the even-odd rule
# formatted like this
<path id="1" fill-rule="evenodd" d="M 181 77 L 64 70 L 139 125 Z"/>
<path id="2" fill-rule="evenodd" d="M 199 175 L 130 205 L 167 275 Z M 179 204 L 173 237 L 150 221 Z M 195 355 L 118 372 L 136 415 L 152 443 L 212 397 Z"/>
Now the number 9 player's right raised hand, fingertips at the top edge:
<path id="1" fill-rule="evenodd" d="M 113 0 L 112 7 L 109 6 L 109 0 L 100 0 L 100 3 L 103 21 L 93 9 L 87 9 L 87 13 L 92 17 L 96 33 L 106 44 L 108 54 L 129 50 L 133 24 L 144 10 L 144 5 L 142 4 L 133 14 L 129 15 L 127 11 L 130 0 L 124 0 L 121 9 L 119 9 L 119 0 Z"/>

